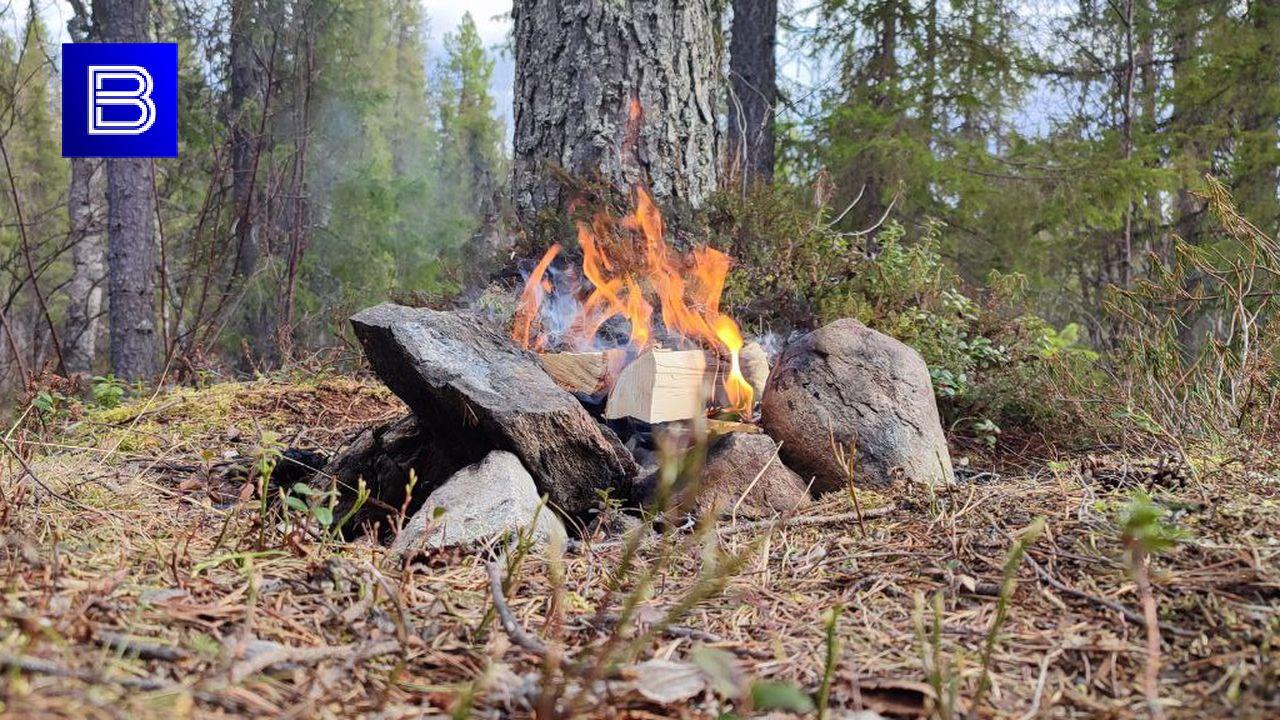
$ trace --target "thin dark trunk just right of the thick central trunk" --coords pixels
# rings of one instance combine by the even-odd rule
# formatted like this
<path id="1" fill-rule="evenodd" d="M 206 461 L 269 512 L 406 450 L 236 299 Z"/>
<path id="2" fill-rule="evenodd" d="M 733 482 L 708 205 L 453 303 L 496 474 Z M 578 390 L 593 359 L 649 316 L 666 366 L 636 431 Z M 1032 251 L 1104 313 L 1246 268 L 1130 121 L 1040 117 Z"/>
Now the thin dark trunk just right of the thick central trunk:
<path id="1" fill-rule="evenodd" d="M 777 31 L 777 0 L 733 0 L 728 158 L 744 182 L 773 179 Z"/>

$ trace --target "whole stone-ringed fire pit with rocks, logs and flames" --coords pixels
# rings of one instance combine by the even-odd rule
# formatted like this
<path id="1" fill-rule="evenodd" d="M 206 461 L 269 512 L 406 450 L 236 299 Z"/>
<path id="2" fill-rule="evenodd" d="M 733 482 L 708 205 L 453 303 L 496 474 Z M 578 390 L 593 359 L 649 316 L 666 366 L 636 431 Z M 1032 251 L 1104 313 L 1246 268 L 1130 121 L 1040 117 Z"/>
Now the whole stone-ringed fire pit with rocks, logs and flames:
<path id="1" fill-rule="evenodd" d="M 786 514 L 850 483 L 951 482 L 915 351 L 838 320 L 788 345 L 771 373 L 721 306 L 730 258 L 677 251 L 649 195 L 634 197 L 630 215 L 577 225 L 581 264 L 548 249 L 509 320 L 399 305 L 351 319 L 412 413 L 330 461 L 324 477 L 343 503 L 370 489 L 348 530 L 390 539 L 403 525 L 413 534 L 401 533 L 399 551 L 475 541 L 534 523 L 541 496 L 554 515 L 538 519 L 538 534 L 554 537 L 548 516 L 588 520 L 603 496 L 645 502 L 659 434 L 684 442 L 668 455 L 705 451 L 682 464 L 696 478 L 676 493 L 700 514 Z M 416 516 L 406 523 L 403 511 Z"/>

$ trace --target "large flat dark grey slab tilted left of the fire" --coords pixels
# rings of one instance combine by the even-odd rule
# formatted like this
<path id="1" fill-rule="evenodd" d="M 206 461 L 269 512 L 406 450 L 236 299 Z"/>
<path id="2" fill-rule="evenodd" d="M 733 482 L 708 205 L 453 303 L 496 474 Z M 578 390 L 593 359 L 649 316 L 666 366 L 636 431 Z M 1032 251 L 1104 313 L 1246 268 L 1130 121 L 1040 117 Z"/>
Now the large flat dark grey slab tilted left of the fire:
<path id="1" fill-rule="evenodd" d="M 571 515 L 591 509 L 598 491 L 630 489 L 636 465 L 617 436 L 488 318 L 387 304 L 351 324 L 374 372 L 436 443 L 460 455 L 511 451 Z"/>

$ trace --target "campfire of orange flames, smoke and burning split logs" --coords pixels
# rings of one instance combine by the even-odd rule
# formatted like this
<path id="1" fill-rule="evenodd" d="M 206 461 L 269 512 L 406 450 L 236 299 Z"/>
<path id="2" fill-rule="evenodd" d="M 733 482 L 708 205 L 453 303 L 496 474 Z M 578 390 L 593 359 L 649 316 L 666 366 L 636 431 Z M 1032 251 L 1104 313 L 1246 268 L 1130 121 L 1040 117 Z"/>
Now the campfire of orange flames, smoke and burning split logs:
<path id="1" fill-rule="evenodd" d="M 607 419 L 750 420 L 758 388 L 744 365 L 755 365 L 758 384 L 768 370 L 763 350 L 744 352 L 737 323 L 721 310 L 730 256 L 676 251 L 639 186 L 628 215 L 596 213 L 577 223 L 577 240 L 581 268 L 557 264 L 562 247 L 552 245 L 529 273 L 512 340 L 539 352 L 566 389 L 603 398 Z"/>

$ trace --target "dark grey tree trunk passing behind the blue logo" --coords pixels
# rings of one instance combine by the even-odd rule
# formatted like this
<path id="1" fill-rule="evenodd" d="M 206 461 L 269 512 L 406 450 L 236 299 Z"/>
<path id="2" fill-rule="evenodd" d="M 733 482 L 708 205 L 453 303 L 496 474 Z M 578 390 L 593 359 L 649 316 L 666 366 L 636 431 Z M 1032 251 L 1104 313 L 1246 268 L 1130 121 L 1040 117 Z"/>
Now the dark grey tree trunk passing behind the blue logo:
<path id="1" fill-rule="evenodd" d="M 146 42 L 148 0 L 96 0 L 105 42 Z M 106 160 L 106 266 L 111 369 L 127 380 L 156 370 L 155 201 L 151 160 Z"/>

